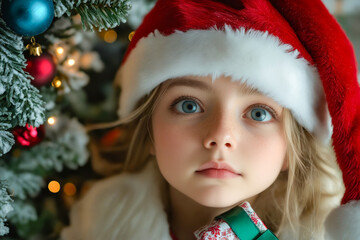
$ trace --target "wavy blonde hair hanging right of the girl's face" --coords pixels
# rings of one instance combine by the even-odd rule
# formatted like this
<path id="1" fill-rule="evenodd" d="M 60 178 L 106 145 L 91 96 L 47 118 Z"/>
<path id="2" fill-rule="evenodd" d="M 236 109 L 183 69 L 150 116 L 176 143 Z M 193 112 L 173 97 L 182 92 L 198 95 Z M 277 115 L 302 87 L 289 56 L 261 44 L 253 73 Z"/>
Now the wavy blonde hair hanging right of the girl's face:
<path id="1" fill-rule="evenodd" d="M 344 192 L 331 145 L 324 145 L 284 109 L 288 170 L 261 193 L 253 207 L 283 239 L 323 239 L 323 224 Z M 290 237 L 291 236 L 291 237 Z"/>

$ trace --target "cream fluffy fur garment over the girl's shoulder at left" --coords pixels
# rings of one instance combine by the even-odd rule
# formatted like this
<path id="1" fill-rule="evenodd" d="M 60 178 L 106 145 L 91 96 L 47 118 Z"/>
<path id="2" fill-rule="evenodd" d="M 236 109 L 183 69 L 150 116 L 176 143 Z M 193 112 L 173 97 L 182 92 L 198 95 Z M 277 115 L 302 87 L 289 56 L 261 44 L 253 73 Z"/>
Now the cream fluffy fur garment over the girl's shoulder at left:
<path id="1" fill-rule="evenodd" d="M 70 213 L 63 240 L 171 240 L 155 163 L 96 183 Z"/>

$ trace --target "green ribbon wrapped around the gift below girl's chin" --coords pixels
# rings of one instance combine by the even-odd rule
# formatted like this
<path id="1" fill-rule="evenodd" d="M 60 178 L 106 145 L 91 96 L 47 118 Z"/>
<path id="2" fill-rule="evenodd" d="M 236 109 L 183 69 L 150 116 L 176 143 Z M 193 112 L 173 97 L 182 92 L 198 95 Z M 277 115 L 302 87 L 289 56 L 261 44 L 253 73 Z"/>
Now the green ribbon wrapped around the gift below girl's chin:
<path id="1" fill-rule="evenodd" d="M 232 231 L 240 240 L 278 240 L 278 238 L 267 229 L 261 233 L 249 215 L 241 207 L 235 207 L 216 219 L 223 219 L 229 224 Z"/>

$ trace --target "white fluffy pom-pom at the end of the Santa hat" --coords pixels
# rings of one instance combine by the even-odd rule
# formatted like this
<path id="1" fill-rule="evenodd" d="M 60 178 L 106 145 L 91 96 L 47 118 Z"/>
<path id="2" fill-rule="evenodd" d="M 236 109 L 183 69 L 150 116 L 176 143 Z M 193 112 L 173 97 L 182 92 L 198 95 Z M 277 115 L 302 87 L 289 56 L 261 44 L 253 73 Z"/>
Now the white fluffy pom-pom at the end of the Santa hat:
<path id="1" fill-rule="evenodd" d="M 327 240 L 360 239 L 360 201 L 335 208 L 325 222 Z"/>

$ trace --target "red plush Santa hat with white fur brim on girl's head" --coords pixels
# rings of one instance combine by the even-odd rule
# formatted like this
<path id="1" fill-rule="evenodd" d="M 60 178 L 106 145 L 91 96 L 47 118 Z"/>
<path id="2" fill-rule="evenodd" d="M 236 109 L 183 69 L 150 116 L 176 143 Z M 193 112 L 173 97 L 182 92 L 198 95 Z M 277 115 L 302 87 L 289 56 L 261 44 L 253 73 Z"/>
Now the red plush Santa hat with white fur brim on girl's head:
<path id="1" fill-rule="evenodd" d="M 360 199 L 356 60 L 320 0 L 158 0 L 117 76 L 120 117 L 160 83 L 186 75 L 231 76 L 290 109 L 318 139 L 332 135 L 342 203 Z"/>

